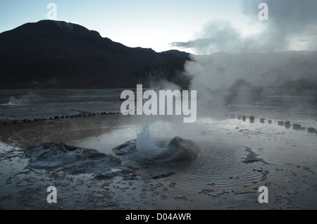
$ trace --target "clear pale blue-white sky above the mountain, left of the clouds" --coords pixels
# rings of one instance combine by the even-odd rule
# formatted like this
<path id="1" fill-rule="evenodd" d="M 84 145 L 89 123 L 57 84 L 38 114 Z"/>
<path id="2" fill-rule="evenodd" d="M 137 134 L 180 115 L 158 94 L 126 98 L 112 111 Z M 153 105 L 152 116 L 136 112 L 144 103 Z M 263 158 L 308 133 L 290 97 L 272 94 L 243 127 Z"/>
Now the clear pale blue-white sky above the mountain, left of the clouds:
<path id="1" fill-rule="evenodd" d="M 49 3 L 57 6 L 57 20 L 83 25 L 126 46 L 158 52 L 175 49 L 171 42 L 194 39 L 210 20 L 228 20 L 243 32 L 254 32 L 235 0 L 7 0 L 0 3 L 0 32 L 46 19 Z"/>

